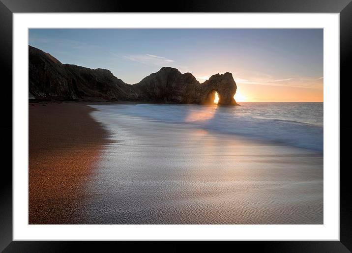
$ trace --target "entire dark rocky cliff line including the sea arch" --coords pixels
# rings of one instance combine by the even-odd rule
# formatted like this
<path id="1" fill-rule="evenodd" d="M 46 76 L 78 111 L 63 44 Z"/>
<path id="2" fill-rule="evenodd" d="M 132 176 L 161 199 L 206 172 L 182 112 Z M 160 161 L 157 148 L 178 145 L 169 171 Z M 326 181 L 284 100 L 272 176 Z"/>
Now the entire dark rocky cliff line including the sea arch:
<path id="1" fill-rule="evenodd" d="M 213 75 L 200 84 L 191 73 L 163 67 L 138 84 L 125 84 L 106 69 L 62 64 L 29 46 L 29 92 L 36 99 L 126 100 L 177 104 L 236 105 L 236 84 L 231 73 Z"/>

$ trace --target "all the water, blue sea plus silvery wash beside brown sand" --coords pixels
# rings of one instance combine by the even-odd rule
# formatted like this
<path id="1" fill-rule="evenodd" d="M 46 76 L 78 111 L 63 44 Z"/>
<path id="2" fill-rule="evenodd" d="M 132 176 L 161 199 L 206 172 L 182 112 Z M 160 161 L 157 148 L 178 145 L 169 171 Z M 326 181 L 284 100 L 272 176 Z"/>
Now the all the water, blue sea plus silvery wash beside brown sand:
<path id="1" fill-rule="evenodd" d="M 77 224 L 323 224 L 323 105 L 92 105 Z"/>

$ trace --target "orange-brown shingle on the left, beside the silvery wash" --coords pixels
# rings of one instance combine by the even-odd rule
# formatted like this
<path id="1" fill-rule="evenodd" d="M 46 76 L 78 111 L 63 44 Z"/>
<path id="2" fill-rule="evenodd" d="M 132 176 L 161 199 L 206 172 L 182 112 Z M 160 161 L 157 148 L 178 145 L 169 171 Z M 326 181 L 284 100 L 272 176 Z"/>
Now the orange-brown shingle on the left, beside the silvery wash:
<path id="1" fill-rule="evenodd" d="M 80 103 L 29 103 L 29 224 L 76 224 L 106 132 Z"/>

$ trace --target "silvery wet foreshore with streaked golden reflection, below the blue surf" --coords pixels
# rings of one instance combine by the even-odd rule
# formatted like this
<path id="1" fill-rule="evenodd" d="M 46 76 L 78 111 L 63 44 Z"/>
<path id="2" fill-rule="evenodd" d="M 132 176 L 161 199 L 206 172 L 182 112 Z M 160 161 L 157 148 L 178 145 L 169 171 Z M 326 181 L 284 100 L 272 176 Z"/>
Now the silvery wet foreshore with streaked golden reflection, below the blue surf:
<path id="1" fill-rule="evenodd" d="M 89 224 L 323 224 L 323 156 L 98 110 Z"/>

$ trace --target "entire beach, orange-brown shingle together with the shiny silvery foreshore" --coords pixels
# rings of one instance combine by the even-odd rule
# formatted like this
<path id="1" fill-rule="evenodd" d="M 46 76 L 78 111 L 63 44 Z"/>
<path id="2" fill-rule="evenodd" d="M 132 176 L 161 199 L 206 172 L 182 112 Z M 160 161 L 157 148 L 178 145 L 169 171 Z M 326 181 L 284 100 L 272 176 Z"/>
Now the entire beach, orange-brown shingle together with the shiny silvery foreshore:
<path id="1" fill-rule="evenodd" d="M 323 224 L 321 153 L 109 108 L 29 104 L 30 224 Z"/>

